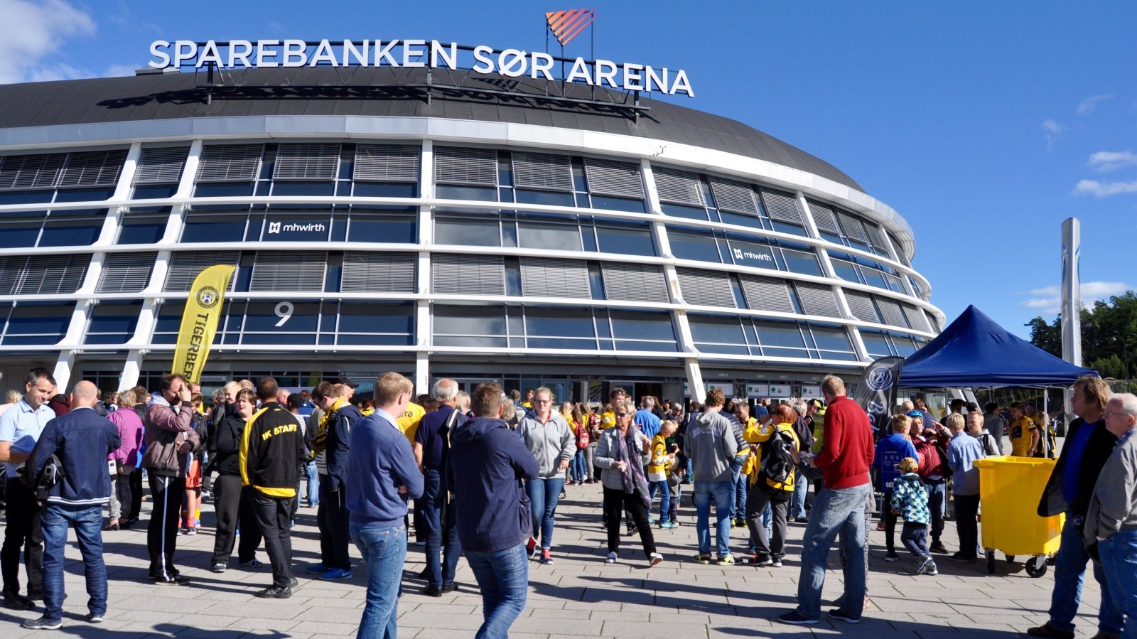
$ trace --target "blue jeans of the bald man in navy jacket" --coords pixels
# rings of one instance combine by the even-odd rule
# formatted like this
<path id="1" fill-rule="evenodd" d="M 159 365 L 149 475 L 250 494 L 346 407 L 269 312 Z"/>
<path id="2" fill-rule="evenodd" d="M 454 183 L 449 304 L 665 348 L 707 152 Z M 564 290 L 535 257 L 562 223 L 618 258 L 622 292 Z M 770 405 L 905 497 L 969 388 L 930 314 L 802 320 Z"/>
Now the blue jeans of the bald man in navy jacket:
<path id="1" fill-rule="evenodd" d="M 67 529 L 75 526 L 75 539 L 83 555 L 86 576 L 86 608 L 97 615 L 107 612 L 107 566 L 102 563 L 102 506 L 48 504 L 43 508 L 43 616 L 59 621 L 64 613 L 64 550 Z"/>

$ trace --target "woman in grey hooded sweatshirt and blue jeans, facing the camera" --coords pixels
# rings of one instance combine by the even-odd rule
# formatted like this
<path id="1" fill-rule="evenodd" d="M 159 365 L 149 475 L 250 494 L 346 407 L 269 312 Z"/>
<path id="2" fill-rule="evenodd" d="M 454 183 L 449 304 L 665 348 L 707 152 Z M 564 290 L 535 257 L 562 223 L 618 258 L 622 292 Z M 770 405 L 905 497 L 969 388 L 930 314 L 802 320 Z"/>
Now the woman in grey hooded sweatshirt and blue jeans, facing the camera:
<path id="1" fill-rule="evenodd" d="M 576 454 L 576 438 L 568 422 L 553 409 L 553 391 L 541 387 L 533 395 L 533 409 L 517 423 L 517 434 L 537 458 L 537 479 L 525 480 L 525 492 L 533 507 L 533 534 L 526 549 L 542 564 L 553 563 L 553 515 L 564 488 L 565 468 Z M 540 553 L 537 543 L 540 538 Z"/>

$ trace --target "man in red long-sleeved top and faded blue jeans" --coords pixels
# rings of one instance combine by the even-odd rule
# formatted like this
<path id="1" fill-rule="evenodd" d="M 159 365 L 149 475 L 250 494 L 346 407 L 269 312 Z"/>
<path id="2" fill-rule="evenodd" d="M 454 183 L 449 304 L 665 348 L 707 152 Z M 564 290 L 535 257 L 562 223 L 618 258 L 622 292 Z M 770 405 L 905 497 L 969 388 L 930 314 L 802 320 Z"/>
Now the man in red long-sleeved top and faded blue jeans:
<path id="1" fill-rule="evenodd" d="M 860 623 L 864 608 L 868 565 L 865 564 L 864 508 L 872 497 L 869 466 L 875 448 L 869 415 L 845 395 L 845 382 L 836 375 L 821 381 L 825 397 L 825 422 L 821 453 L 812 464 L 824 474 L 824 488 L 813 500 L 810 523 L 802 540 L 802 574 L 797 582 L 797 608 L 778 619 L 795 625 L 821 620 L 821 588 L 825 583 L 825 558 L 837 539 L 844 540 L 844 604 L 829 611 L 830 619 Z"/>

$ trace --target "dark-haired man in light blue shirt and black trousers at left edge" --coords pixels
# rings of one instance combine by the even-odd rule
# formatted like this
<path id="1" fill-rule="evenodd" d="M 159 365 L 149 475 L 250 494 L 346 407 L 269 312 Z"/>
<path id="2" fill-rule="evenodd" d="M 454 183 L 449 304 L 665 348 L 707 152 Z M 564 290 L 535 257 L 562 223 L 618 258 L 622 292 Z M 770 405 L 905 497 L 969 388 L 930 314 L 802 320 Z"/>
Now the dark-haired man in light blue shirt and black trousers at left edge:
<path id="1" fill-rule="evenodd" d="M 9 608 L 28 611 L 33 599 L 42 599 L 43 533 L 40 530 L 40 506 L 31 488 L 16 478 L 16 468 L 55 418 L 48 400 L 56 393 L 56 380 L 43 368 L 33 368 L 24 382 L 24 398 L 0 415 L 0 462 L 8 473 L 8 525 L 0 549 L 0 573 L 3 574 L 3 600 Z M 19 553 L 27 564 L 27 597 L 19 594 Z"/>

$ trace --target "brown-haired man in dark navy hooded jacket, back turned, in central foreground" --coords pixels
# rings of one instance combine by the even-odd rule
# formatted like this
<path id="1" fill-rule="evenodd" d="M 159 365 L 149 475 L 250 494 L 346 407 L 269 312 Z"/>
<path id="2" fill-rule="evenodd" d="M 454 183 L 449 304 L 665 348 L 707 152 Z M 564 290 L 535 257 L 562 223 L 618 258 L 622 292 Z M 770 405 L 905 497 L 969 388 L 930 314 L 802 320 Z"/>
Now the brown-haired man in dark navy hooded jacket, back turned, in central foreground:
<path id="1" fill-rule="evenodd" d="M 448 473 L 458 509 L 458 540 L 482 590 L 484 621 L 476 639 L 506 637 L 525 609 L 529 588 L 525 540 L 533 530 L 522 480 L 536 479 L 540 470 L 522 439 L 500 418 L 503 400 L 501 387 L 478 387 L 476 417 L 450 440 Z"/>

